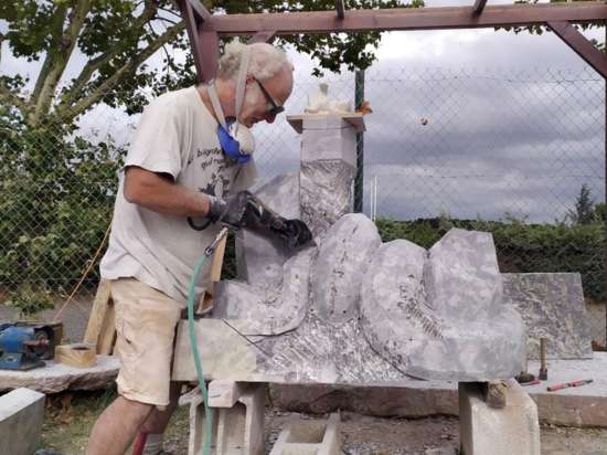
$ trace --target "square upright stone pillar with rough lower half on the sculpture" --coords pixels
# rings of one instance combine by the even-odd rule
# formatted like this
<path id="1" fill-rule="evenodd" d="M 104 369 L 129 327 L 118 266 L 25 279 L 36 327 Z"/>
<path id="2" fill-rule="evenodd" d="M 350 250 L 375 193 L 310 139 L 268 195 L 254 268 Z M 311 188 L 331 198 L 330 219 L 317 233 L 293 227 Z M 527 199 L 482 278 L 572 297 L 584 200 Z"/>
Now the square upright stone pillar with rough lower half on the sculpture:
<path id="1" fill-rule="evenodd" d="M 305 115 L 297 118 L 301 121 L 301 220 L 315 236 L 321 236 L 343 214 L 352 211 L 356 133 L 364 124 L 362 116 Z M 292 119 L 289 118 L 291 125 Z"/>

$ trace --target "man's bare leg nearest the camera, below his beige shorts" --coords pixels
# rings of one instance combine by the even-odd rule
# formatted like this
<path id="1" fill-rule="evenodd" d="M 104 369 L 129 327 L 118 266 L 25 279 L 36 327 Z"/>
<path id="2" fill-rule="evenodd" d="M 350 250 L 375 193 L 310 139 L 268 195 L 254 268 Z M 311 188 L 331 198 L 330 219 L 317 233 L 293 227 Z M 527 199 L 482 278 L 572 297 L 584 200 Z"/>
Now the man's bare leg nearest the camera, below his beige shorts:
<path id="1" fill-rule="evenodd" d="M 124 455 L 152 408 L 118 396 L 93 426 L 86 455 Z"/>

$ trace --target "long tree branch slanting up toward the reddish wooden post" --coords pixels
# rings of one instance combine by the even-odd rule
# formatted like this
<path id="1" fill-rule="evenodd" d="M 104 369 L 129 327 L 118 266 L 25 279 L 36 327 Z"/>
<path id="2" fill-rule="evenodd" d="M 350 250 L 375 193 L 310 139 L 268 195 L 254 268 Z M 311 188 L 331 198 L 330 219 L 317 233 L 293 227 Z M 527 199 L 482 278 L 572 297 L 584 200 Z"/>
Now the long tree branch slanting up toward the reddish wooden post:
<path id="1" fill-rule="evenodd" d="M 110 77 L 105 80 L 97 88 L 95 88 L 88 96 L 81 99 L 73 106 L 65 106 L 63 109 L 57 110 L 57 115 L 64 123 L 70 123 L 81 114 L 85 113 L 95 103 L 98 103 L 109 91 L 111 91 L 118 83 L 127 77 L 131 72 L 136 71 L 141 63 L 148 60 L 156 51 L 162 47 L 166 43 L 177 38 L 179 33 L 184 29 L 184 23 L 178 23 L 177 25 L 167 29 L 164 33 L 152 41 L 147 47 L 131 59 L 128 63 L 124 64 L 117 70 Z"/>

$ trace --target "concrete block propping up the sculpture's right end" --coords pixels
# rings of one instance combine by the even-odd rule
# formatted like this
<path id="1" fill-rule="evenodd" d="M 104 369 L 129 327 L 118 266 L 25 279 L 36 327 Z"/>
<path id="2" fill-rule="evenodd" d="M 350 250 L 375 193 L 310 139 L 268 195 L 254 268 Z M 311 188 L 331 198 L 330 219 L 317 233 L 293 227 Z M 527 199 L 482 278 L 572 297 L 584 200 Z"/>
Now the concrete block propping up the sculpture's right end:
<path id="1" fill-rule="evenodd" d="M 514 380 L 507 405 L 489 408 L 478 384 L 459 384 L 459 437 L 464 455 L 540 455 L 537 406 Z"/>

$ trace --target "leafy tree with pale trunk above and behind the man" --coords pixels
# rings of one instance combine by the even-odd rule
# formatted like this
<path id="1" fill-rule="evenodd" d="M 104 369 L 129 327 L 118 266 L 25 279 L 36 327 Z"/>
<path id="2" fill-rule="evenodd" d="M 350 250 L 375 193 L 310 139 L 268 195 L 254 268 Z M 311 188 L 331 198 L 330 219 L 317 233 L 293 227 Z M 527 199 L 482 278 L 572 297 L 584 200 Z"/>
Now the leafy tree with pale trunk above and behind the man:
<path id="1" fill-rule="evenodd" d="M 212 11 L 285 12 L 333 9 L 332 0 L 207 0 Z M 393 8 L 398 0 L 352 0 L 350 8 Z M 412 7 L 423 7 L 412 0 Z M 195 80 L 184 24 L 171 0 L 15 0 L 0 2 L 0 19 L 9 30 L 0 35 L 12 54 L 42 65 L 26 93 L 26 81 L 17 75 L 0 77 L 0 102 L 17 109 L 29 126 L 74 126 L 77 117 L 104 100 L 124 105 L 127 112 L 142 108 L 146 91 L 163 92 Z M 318 57 L 320 66 L 338 71 L 368 67 L 380 33 L 295 35 L 280 39 L 298 51 Z M 164 67 L 145 62 L 157 51 L 164 53 Z M 187 51 L 184 61 L 174 50 Z M 84 60 L 77 76 L 66 81 L 68 63 Z M 84 59 L 82 59 L 84 56 Z"/>

